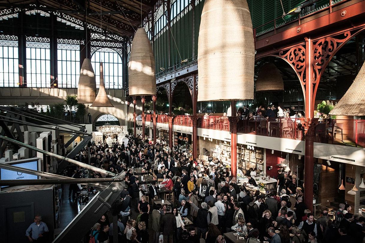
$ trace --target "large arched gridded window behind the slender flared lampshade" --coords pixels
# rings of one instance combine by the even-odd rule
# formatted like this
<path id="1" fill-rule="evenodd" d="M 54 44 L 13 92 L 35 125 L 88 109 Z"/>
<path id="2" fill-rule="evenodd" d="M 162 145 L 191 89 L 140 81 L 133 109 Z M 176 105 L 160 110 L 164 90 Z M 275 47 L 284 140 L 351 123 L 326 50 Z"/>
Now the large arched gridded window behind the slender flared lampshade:
<path id="1" fill-rule="evenodd" d="M 104 84 L 106 89 L 123 89 L 122 58 L 110 48 L 100 48 L 91 57 L 91 64 L 95 72 L 96 87 L 99 88 L 100 61 L 104 67 Z"/>

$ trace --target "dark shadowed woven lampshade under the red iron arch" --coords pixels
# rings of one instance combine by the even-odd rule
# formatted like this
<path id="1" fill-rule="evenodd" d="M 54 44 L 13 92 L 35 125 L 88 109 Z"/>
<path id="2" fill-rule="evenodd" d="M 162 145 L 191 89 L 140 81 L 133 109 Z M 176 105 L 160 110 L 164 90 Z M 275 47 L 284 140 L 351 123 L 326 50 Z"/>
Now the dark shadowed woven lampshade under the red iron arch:
<path id="1" fill-rule="evenodd" d="M 278 90 L 284 90 L 283 77 L 273 63 L 267 63 L 257 75 L 256 91 Z"/>

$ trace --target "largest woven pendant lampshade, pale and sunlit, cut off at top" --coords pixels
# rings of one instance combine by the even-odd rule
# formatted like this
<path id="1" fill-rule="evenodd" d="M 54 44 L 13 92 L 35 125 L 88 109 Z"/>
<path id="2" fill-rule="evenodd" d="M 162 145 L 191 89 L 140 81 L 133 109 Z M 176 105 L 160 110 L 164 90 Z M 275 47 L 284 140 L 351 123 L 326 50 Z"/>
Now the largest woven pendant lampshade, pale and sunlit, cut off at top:
<path id="1" fill-rule="evenodd" d="M 252 21 L 246 0 L 205 0 L 198 39 L 197 101 L 254 97 Z"/>

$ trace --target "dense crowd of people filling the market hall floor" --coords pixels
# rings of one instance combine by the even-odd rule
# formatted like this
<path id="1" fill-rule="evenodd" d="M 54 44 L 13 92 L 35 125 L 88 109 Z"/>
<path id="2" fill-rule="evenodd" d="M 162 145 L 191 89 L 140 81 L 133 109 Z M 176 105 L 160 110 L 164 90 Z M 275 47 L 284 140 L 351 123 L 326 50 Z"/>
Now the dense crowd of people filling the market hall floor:
<path id="1" fill-rule="evenodd" d="M 90 147 L 92 165 L 126 172 L 127 187 L 120 200 L 129 197 L 130 205 L 118 214 L 118 234 L 127 242 L 200 243 L 203 238 L 207 243 L 221 243 L 226 242 L 224 233 L 228 232 L 237 233 L 246 242 L 363 242 L 364 217 L 352 214 L 351 207 L 341 203 L 333 219 L 326 210 L 315 219 L 312 208 L 303 202 L 295 175 L 284 177 L 280 170 L 278 192 L 261 194 L 247 187 L 254 180 L 237 182 L 219 160 L 192 159 L 165 145 L 130 137 L 127 144 L 117 141 L 111 147 L 103 143 Z M 152 171 L 160 183 L 154 180 L 148 191 L 143 191 L 139 176 L 133 173 L 136 167 Z M 249 179 L 250 172 L 254 171 L 247 172 Z M 154 203 L 161 197 L 160 187 L 168 188 L 174 201 Z M 296 193 L 295 204 L 289 200 L 292 193 Z M 95 242 L 112 242 L 113 224 L 107 218 L 104 215 L 90 232 Z M 187 219 L 193 224 L 187 225 Z"/>

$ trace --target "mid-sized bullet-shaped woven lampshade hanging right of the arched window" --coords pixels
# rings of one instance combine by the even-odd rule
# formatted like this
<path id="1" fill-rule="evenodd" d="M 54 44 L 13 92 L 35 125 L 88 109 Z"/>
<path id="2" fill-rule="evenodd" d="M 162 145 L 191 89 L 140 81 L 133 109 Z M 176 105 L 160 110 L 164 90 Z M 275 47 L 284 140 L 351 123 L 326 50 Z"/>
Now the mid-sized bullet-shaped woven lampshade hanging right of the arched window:
<path id="1" fill-rule="evenodd" d="M 131 96 L 156 94 L 155 58 L 145 29 L 138 29 L 133 38 L 128 82 Z"/>

